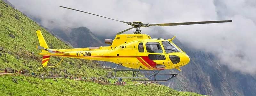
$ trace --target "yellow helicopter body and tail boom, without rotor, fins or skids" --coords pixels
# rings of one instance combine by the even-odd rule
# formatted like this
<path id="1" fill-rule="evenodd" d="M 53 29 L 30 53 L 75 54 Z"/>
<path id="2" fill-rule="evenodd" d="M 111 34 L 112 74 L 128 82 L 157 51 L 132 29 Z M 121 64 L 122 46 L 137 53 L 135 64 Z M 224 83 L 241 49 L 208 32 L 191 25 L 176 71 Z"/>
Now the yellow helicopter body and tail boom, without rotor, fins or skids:
<path id="1" fill-rule="evenodd" d="M 173 38 L 172 38 L 173 39 Z M 110 46 L 51 49 L 61 53 L 41 52 L 41 55 L 108 61 L 127 68 L 163 70 L 188 64 L 189 57 L 172 39 L 152 39 L 147 34 L 120 34 L 108 44 Z"/>

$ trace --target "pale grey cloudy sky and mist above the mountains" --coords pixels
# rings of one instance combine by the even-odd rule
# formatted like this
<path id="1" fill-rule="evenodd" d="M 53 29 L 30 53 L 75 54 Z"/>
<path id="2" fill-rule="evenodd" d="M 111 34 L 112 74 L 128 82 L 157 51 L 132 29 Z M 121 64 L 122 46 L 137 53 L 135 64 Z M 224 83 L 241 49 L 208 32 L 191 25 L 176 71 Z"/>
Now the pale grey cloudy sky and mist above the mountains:
<path id="1" fill-rule="evenodd" d="M 89 28 L 94 34 L 112 36 L 130 28 L 127 24 L 76 12 L 67 6 L 121 21 L 172 23 L 233 20 L 232 23 L 155 28 L 176 35 L 184 44 L 214 53 L 233 71 L 256 73 L 256 0 L 9 0 L 21 12 L 42 19 L 46 28 Z M 54 23 L 53 23 L 54 22 Z M 126 32 L 132 33 L 132 30 Z M 171 38 L 171 37 L 170 37 Z M 217 65 L 216 65 L 217 66 Z"/>

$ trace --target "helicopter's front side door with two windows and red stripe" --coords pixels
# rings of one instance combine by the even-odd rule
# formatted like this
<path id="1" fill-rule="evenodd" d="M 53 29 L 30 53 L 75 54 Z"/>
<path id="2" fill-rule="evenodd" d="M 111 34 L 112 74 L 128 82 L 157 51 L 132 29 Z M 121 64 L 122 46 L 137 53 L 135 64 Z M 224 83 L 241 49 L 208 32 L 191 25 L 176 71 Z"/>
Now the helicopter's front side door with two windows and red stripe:
<path id="1" fill-rule="evenodd" d="M 166 58 L 166 54 L 163 51 L 163 47 L 159 42 L 147 42 L 145 49 L 146 55 L 149 59 L 148 61 L 150 61 L 149 65 L 153 68 L 163 68 L 162 65 L 167 65 L 169 62 L 169 60 Z"/>

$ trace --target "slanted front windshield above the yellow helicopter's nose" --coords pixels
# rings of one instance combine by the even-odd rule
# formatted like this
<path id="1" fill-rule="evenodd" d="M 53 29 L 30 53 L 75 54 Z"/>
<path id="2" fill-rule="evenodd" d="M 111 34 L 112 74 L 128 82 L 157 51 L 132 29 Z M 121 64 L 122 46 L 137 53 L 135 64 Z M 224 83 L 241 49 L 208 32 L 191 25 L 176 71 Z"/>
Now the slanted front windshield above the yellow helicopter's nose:
<path id="1" fill-rule="evenodd" d="M 181 52 L 176 46 L 172 45 L 169 41 L 162 42 L 166 53 Z"/>

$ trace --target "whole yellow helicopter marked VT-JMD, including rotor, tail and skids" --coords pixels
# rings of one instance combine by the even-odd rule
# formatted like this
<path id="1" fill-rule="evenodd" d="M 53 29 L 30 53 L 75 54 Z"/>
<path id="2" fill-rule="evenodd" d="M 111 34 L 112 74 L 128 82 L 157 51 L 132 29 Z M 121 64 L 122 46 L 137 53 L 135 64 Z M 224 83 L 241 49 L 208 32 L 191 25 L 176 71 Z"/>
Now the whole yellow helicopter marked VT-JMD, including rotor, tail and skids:
<path id="1" fill-rule="evenodd" d="M 60 6 L 62 8 L 84 12 L 73 8 Z M 178 26 L 178 25 L 192 25 L 192 24 L 207 24 L 207 23 L 224 23 L 232 22 L 232 20 L 217 20 L 217 21 L 198 21 L 198 22 L 180 22 L 180 23 L 142 23 L 139 21 L 126 22 L 108 17 L 100 16 L 97 14 L 84 12 L 87 14 L 103 17 L 110 20 L 123 22 L 132 26 L 121 32 L 116 33 L 114 40 L 105 39 L 105 43 L 109 46 L 88 47 L 88 48 L 74 48 L 74 49 L 49 49 L 44 37 L 40 30 L 36 31 L 39 44 L 37 49 L 42 50 L 40 55 L 43 55 L 42 65 L 43 67 L 55 67 L 58 66 L 64 57 L 78 58 L 87 60 L 108 61 L 117 64 L 114 68 L 115 75 L 112 78 L 132 78 L 132 81 L 167 81 L 177 76 L 177 73 L 159 73 L 165 69 L 177 69 L 185 66 L 189 63 L 190 58 L 182 49 L 180 49 L 172 41 L 175 38 L 173 36 L 170 39 L 163 38 L 151 38 L 147 34 L 141 34 L 141 27 L 150 26 Z M 135 28 L 133 34 L 122 34 L 128 30 Z M 55 66 L 48 66 L 47 63 L 50 56 L 63 57 L 62 60 Z M 124 66 L 131 68 L 119 69 L 118 66 Z M 43 68 L 41 67 L 41 68 Z M 116 76 L 120 71 L 132 71 L 131 77 Z M 143 73 L 144 72 L 144 73 Z M 153 72 L 153 73 L 152 73 Z M 142 75 L 142 76 L 141 76 Z M 143 76 L 145 75 L 145 76 Z M 168 75 L 165 80 L 156 79 L 156 75 Z M 145 78 L 154 77 L 153 80 L 145 80 Z"/>

